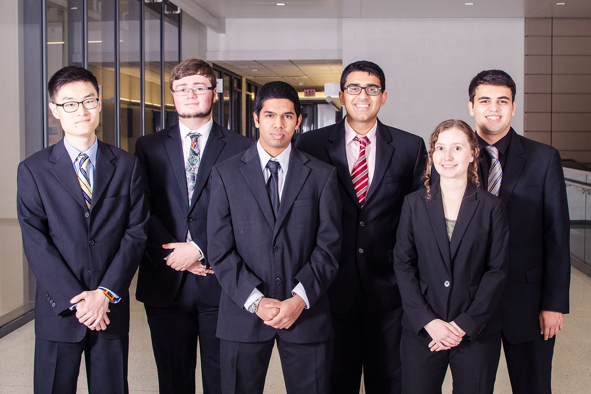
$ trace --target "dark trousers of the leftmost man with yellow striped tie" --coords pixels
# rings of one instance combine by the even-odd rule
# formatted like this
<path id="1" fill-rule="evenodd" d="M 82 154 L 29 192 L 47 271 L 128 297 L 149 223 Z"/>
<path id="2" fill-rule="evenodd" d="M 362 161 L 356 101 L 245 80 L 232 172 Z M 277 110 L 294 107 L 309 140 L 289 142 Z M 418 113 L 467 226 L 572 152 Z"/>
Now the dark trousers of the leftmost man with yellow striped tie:
<path id="1" fill-rule="evenodd" d="M 84 353 L 90 394 L 127 394 L 129 337 L 105 339 L 101 331 L 86 330 L 80 342 L 35 338 L 35 394 L 75 394 Z"/>

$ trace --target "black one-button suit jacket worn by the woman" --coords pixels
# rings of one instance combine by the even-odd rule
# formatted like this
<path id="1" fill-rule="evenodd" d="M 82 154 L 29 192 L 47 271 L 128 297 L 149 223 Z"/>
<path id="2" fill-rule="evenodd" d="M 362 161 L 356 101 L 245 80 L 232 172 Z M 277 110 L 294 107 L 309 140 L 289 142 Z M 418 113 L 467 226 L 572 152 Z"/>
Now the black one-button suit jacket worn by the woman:
<path id="1" fill-rule="evenodd" d="M 501 199 L 469 182 L 449 240 L 439 183 L 426 196 L 424 189 L 404 198 L 398 226 L 402 326 L 428 336 L 423 327 L 431 320 L 453 320 L 472 341 L 498 332 L 509 242 Z"/>

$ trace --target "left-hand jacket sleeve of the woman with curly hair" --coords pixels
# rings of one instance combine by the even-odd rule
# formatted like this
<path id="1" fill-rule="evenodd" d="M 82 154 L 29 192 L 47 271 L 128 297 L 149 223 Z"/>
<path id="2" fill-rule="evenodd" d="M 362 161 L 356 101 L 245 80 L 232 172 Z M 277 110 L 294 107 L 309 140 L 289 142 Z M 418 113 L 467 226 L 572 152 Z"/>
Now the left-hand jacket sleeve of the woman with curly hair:
<path id="1" fill-rule="evenodd" d="M 394 247 L 394 271 L 402 297 L 404 313 L 413 325 L 416 334 L 431 320 L 440 318 L 428 304 L 421 291 L 418 275 L 418 255 L 414 240 L 413 212 L 404 197 L 400 223 L 396 233 Z"/>

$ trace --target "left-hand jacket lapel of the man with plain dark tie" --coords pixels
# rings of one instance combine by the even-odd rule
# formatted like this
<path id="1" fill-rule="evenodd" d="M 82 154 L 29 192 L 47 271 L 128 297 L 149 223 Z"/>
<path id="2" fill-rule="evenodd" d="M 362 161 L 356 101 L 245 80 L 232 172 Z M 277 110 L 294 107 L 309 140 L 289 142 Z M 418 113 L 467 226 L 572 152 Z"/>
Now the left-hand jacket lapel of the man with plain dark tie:
<path id="1" fill-rule="evenodd" d="M 262 213 L 265 215 L 265 218 L 267 218 L 269 226 L 274 228 L 275 217 L 273 214 L 273 208 L 271 207 L 271 200 L 269 200 L 269 194 L 265 187 L 265 178 L 262 175 L 261 159 L 259 159 L 256 144 L 252 144 L 250 148 L 246 149 L 246 152 L 242 155 L 242 161 L 245 164 L 240 167 L 240 172 L 242 173 L 246 184 L 248 184 L 248 187 L 251 189 L 252 194 L 254 194 L 256 202 L 258 202 L 259 207 L 261 207 Z"/>

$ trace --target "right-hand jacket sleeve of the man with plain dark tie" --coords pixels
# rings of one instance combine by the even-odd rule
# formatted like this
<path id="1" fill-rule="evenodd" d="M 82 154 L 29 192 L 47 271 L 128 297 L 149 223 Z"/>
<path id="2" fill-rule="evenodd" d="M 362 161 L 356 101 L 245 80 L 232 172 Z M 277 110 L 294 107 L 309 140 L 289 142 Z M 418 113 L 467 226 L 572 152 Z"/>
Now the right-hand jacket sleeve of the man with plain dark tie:
<path id="1" fill-rule="evenodd" d="M 320 194 L 316 245 L 314 245 L 310 260 L 294 276 L 294 285 L 298 281 L 304 286 L 310 308 L 326 293 L 326 289 L 339 271 L 341 213 L 336 168 L 333 168 Z"/>

